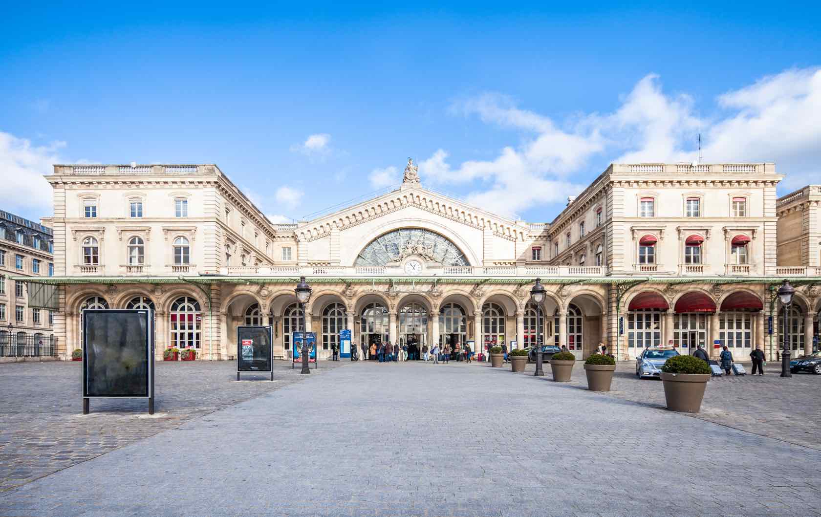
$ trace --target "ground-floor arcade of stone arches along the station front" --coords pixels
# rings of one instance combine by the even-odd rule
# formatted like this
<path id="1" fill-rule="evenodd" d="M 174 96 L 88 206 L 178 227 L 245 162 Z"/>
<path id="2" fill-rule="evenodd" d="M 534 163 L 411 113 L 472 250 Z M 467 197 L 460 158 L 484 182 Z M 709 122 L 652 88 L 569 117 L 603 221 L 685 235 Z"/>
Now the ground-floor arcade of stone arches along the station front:
<path id="1" fill-rule="evenodd" d="M 308 279 L 310 281 L 310 278 Z M 296 303 L 290 284 L 245 286 L 206 284 L 163 285 L 148 291 L 140 284 L 115 289 L 66 291 L 67 350 L 80 344 L 82 309 L 150 308 L 155 310 L 158 357 L 167 346 L 191 346 L 202 359 L 236 357 L 236 327 L 271 325 L 274 354 L 291 356 L 292 333 L 303 326 L 316 332 L 319 358 L 332 355 L 342 329 L 351 329 L 352 343 L 369 346 L 391 341 L 400 345 L 470 345 L 508 348 L 545 344 L 566 345 L 584 359 L 599 343 L 619 359 L 633 359 L 645 346 L 673 345 L 692 353 L 704 345 L 713 355 L 715 341 L 726 344 L 736 359 L 748 359 L 756 345 L 769 360 L 782 340 L 783 311 L 766 286 L 744 284 L 670 286 L 644 283 L 626 291 L 605 283 L 551 285 L 544 303 L 530 303 L 530 284 L 444 283 L 320 283 L 305 310 Z M 296 281 L 294 282 L 296 284 Z M 75 291 L 75 292 L 72 292 Z M 788 315 L 792 350 L 817 350 L 821 296 L 799 288 Z M 210 310 L 209 310 L 210 309 Z M 618 312 L 617 312 L 618 311 Z M 772 319 L 772 323 L 770 322 Z M 772 332 L 772 333 L 771 333 Z"/>

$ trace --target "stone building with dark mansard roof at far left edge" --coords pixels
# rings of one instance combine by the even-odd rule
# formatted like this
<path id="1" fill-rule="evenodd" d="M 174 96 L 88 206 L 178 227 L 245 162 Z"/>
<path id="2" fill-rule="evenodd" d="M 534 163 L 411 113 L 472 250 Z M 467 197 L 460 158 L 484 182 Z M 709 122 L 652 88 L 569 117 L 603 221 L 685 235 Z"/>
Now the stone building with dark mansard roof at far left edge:
<path id="1" fill-rule="evenodd" d="M 25 281 L 51 277 L 53 267 L 51 228 L 0 210 L 0 360 L 57 352 L 54 313 L 29 306 Z"/>

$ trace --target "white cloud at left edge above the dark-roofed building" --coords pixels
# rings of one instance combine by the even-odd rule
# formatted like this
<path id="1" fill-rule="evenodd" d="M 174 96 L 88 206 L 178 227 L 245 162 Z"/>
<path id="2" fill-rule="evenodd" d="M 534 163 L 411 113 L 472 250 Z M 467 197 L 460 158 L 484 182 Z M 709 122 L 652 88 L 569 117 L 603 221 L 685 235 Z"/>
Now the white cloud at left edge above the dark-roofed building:
<path id="1" fill-rule="evenodd" d="M 58 158 L 57 149 L 65 142 L 44 146 L 0 131 L 0 206 L 11 213 L 39 221 L 39 217 L 54 213 L 52 189 L 44 175 L 53 174 Z"/>

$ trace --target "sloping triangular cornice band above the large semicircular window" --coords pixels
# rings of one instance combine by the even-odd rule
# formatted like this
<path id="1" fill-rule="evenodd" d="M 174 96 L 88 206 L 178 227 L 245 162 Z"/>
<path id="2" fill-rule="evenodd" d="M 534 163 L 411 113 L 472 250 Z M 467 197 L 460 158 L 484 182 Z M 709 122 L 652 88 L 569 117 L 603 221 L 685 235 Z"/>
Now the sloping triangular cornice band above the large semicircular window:
<path id="1" fill-rule="evenodd" d="M 342 208 L 334 213 L 300 222 L 296 236 L 304 240 L 319 239 L 333 230 L 344 231 L 351 226 L 374 221 L 407 208 L 418 208 L 449 221 L 484 230 L 509 240 L 523 240 L 530 231 L 527 226 L 510 217 L 476 208 L 460 199 L 425 189 L 419 184 L 404 184 L 397 190 L 378 195 L 359 204 Z"/>

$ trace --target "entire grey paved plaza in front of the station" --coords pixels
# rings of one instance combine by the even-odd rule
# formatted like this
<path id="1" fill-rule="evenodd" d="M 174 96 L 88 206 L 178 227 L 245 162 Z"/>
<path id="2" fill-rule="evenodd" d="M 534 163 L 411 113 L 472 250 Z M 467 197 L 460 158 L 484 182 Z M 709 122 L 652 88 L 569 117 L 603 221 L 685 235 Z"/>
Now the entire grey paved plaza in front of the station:
<path id="1" fill-rule="evenodd" d="M 274 383 L 158 366 L 150 418 L 122 400 L 80 416 L 76 365 L 0 365 L 0 474 L 48 440 L 71 464 L 0 493 L 0 515 L 821 515 L 821 451 L 800 445 L 817 376 L 717 379 L 694 418 L 631 364 L 611 394 L 582 389 L 580 364 L 569 384 L 487 364 L 280 366 Z"/>

